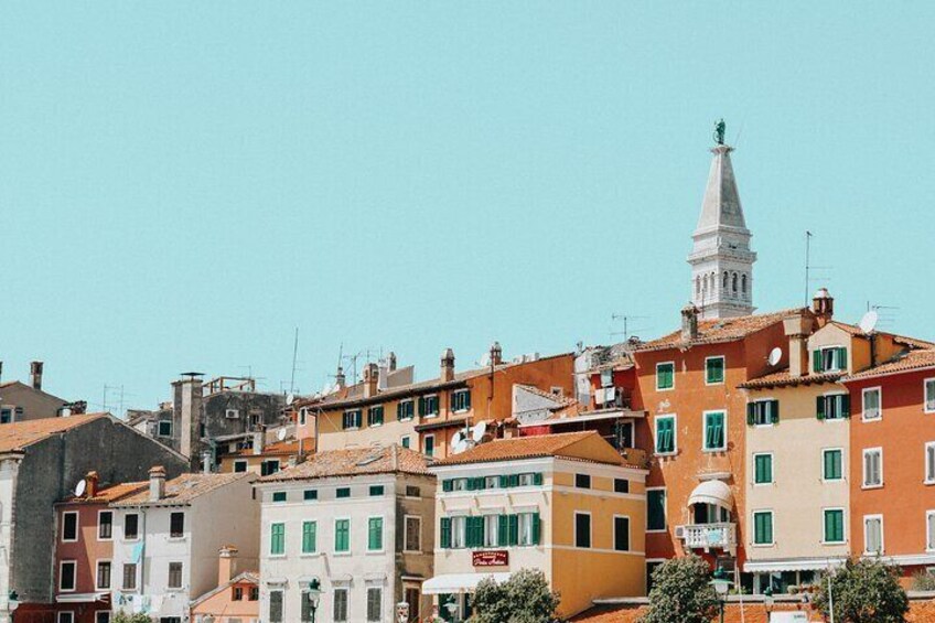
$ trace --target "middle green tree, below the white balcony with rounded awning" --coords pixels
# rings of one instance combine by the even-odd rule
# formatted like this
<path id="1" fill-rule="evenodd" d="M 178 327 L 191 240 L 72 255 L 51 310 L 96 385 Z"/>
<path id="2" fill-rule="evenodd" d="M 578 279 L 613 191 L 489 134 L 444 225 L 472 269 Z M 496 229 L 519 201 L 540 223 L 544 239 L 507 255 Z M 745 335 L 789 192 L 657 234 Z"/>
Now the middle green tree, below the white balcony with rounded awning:
<path id="1" fill-rule="evenodd" d="M 649 610 L 642 623 L 710 623 L 718 595 L 708 563 L 695 555 L 671 558 L 653 571 Z"/>

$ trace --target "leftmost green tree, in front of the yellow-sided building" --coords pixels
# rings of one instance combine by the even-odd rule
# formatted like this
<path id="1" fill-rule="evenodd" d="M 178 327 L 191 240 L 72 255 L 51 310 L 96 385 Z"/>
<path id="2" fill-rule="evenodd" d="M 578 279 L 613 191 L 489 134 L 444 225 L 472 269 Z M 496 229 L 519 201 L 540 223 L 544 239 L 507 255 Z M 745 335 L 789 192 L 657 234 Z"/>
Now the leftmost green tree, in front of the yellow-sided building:
<path id="1" fill-rule="evenodd" d="M 474 592 L 471 623 L 549 623 L 560 602 L 538 569 L 520 569 L 505 582 L 484 578 Z"/>

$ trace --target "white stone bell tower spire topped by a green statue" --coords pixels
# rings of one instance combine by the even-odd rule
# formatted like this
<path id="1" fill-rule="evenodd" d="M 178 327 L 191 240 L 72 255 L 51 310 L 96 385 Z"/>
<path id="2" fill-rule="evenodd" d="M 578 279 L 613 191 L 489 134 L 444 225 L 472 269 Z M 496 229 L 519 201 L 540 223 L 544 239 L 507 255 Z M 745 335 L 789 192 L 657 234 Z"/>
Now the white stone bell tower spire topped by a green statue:
<path id="1" fill-rule="evenodd" d="M 701 216 L 691 235 L 688 264 L 691 265 L 691 302 L 701 318 L 748 315 L 753 307 L 752 234 L 746 228 L 730 153 L 724 144 L 724 122 L 714 128 L 714 154 L 708 186 L 701 202 Z"/>

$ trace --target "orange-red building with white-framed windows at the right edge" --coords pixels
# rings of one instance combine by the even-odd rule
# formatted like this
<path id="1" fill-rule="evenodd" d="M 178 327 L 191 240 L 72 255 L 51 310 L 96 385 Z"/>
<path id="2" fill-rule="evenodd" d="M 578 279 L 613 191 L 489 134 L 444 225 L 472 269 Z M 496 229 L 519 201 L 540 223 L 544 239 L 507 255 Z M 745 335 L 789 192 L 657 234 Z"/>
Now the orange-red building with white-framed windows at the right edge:
<path id="1" fill-rule="evenodd" d="M 852 374 L 853 554 L 935 571 L 935 350 L 900 353 Z"/>

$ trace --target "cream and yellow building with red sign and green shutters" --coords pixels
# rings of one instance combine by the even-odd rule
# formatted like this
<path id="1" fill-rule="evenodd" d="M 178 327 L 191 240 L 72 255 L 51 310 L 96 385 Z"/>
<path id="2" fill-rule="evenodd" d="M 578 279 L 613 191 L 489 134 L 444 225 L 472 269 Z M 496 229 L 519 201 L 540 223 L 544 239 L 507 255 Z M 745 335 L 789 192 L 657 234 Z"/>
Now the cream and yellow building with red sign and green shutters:
<path id="1" fill-rule="evenodd" d="M 439 529 L 434 577 L 422 590 L 443 617 L 470 615 L 481 579 L 525 568 L 561 594 L 562 616 L 594 599 L 643 594 L 646 471 L 598 432 L 499 439 L 430 471 Z"/>

